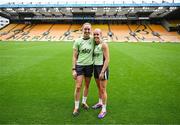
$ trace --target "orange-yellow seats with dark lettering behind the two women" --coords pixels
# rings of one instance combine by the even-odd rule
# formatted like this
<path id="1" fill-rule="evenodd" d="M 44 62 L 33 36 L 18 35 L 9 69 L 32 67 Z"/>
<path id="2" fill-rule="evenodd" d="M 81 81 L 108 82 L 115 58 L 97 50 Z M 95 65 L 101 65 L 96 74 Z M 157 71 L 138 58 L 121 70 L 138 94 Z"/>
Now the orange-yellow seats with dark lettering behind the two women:
<path id="1" fill-rule="evenodd" d="M 81 27 L 80 24 L 9 24 L 0 30 L 0 40 L 72 41 L 81 37 Z M 108 41 L 180 42 L 177 32 L 168 32 L 155 24 L 92 24 L 92 30 L 95 28 L 100 28 L 103 39 Z"/>

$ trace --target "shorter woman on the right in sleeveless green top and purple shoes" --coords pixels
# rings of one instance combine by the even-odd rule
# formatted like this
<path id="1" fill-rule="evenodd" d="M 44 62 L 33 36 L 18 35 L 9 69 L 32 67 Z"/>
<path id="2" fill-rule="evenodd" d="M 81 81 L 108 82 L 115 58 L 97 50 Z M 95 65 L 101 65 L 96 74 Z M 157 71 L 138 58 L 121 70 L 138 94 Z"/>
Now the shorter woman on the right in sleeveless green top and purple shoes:
<path id="1" fill-rule="evenodd" d="M 95 104 L 92 108 L 102 108 L 98 115 L 98 118 L 104 118 L 107 114 L 106 104 L 107 104 L 107 91 L 106 86 L 108 83 L 109 76 L 109 47 L 108 44 L 102 42 L 102 31 L 100 29 L 95 29 L 93 32 L 95 48 L 94 48 L 94 78 L 98 87 L 99 92 L 99 102 Z"/>

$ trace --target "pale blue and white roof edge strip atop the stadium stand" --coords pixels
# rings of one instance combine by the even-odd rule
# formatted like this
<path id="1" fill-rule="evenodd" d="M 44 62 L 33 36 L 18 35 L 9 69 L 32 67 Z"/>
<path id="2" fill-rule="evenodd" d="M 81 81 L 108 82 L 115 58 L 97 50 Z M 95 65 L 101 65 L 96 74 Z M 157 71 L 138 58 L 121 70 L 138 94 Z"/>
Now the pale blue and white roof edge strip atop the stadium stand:
<path id="1" fill-rule="evenodd" d="M 4 3 L 0 1 L 0 8 L 29 8 L 29 7 L 136 7 L 136 6 L 180 6 L 180 0 L 65 0 L 65 1 L 53 1 L 48 2 L 48 0 L 38 1 L 38 0 L 27 0 L 23 2 L 22 0 L 16 0 L 13 2 Z M 4 3 L 4 4 L 2 4 Z"/>

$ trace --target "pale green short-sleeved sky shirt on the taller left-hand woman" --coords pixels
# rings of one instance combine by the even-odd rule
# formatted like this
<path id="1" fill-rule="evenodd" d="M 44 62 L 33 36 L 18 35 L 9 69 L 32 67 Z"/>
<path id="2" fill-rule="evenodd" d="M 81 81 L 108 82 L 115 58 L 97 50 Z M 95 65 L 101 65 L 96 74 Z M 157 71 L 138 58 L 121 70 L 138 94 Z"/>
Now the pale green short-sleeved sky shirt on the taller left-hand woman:
<path id="1" fill-rule="evenodd" d="M 79 38 L 74 42 L 74 49 L 78 51 L 77 65 L 92 65 L 93 64 L 93 50 L 94 50 L 94 39 L 84 40 Z"/>

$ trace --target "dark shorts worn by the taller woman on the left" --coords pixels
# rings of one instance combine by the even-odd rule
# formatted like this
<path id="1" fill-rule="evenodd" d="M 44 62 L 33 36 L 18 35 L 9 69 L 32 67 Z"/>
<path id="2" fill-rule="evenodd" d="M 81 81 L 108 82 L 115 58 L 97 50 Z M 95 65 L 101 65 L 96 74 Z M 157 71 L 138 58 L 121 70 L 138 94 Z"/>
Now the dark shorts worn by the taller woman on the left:
<path id="1" fill-rule="evenodd" d="M 77 76 L 84 75 L 85 77 L 91 77 L 93 73 L 93 65 L 76 65 Z"/>

